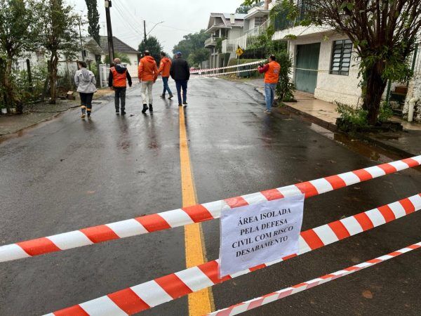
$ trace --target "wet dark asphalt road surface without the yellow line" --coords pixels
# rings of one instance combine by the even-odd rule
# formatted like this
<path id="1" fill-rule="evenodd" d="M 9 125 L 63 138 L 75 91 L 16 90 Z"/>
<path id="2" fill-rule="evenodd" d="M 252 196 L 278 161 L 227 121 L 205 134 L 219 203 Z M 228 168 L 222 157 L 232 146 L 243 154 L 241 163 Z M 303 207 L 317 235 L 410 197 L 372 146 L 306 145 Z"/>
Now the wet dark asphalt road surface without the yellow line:
<path id="1" fill-rule="evenodd" d="M 158 88 L 159 87 L 159 88 Z M 175 87 L 172 84 L 172 88 Z M 0 143 L 0 244 L 44 237 L 181 206 L 178 106 L 158 98 L 128 115 L 94 105 L 93 120 L 72 110 Z M 352 171 L 387 159 L 342 145 L 288 114 L 267 117 L 246 84 L 192 79 L 185 111 L 199 202 Z M 129 116 L 133 114 L 133 116 Z M 335 136 L 334 136 L 335 137 Z M 355 147 L 356 150 L 350 150 Z M 366 153 L 360 154 L 360 152 Z M 421 191 L 419 171 L 403 171 L 308 199 L 303 230 Z M 213 287 L 225 308 L 420 242 L 421 214 L 345 239 Z M 218 258 L 218 220 L 203 223 L 206 258 Z M 41 315 L 185 268 L 182 228 L 1 263 L 0 315 Z M 420 315 L 421 253 L 284 298 L 250 315 Z M 367 293 L 371 294 L 367 295 Z M 363 295 L 363 293 L 365 295 Z M 371 297 L 371 298 L 366 298 Z M 145 315 L 187 315 L 187 298 Z"/>

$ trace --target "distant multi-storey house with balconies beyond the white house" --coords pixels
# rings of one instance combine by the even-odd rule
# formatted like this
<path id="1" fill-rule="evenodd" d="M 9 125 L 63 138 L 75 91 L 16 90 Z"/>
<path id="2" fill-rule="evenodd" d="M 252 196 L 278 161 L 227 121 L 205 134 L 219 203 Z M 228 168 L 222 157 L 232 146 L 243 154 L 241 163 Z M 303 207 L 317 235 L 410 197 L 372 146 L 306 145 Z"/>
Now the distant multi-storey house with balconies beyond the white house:
<path id="1" fill-rule="evenodd" d="M 235 57 L 237 46 L 228 44 L 228 41 L 243 35 L 245 16 L 239 13 L 210 13 L 206 30 L 210 37 L 205 41 L 205 48 L 210 50 L 210 68 L 225 67 L 229 59 Z"/>

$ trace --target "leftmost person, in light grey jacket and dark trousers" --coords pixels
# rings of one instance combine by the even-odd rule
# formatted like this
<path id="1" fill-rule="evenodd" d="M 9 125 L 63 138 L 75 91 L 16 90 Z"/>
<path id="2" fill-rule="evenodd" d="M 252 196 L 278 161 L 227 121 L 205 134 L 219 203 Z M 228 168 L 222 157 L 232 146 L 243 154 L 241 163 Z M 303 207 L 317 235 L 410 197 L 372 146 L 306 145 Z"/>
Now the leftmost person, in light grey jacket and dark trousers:
<path id="1" fill-rule="evenodd" d="M 93 93 L 97 91 L 97 88 L 95 86 L 95 75 L 91 70 L 86 69 L 86 62 L 79 62 L 79 70 L 74 74 L 74 83 L 76 84 L 77 92 L 79 92 L 79 96 L 81 97 L 81 118 L 84 119 L 87 112 L 88 119 L 91 119 L 92 98 Z"/>

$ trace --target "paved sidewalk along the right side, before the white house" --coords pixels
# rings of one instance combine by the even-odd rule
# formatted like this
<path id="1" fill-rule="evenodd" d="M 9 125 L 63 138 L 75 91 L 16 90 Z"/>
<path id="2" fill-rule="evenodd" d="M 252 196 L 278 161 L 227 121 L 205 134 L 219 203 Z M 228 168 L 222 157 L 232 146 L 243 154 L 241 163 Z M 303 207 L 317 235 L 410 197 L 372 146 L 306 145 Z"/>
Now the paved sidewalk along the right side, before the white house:
<path id="1" fill-rule="evenodd" d="M 265 94 L 261 79 L 252 79 L 247 81 L 246 84 L 255 86 L 257 91 L 263 95 Z M 287 110 L 308 117 L 316 124 L 330 131 L 338 131 L 336 119 L 339 117 L 339 114 L 336 112 L 336 105 L 318 100 L 312 94 L 302 91 L 295 91 L 294 96 L 297 102 L 283 103 Z M 359 133 L 359 136 L 371 143 L 385 147 L 385 149 L 401 152 L 401 154 L 408 156 L 421 154 L 421 124 L 409 123 L 397 117 L 393 117 L 391 120 L 399 121 L 403 126 L 403 131 Z"/>

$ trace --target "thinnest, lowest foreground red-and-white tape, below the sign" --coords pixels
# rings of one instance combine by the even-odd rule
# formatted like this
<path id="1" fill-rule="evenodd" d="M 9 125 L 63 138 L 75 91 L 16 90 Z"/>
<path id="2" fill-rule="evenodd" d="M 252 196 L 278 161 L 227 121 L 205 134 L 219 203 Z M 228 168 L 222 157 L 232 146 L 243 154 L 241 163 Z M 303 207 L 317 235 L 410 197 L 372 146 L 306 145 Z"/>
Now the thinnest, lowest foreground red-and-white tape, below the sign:
<path id="1" fill-rule="evenodd" d="M 350 275 L 354 272 L 371 268 L 373 265 L 377 265 L 378 263 L 382 263 L 388 261 L 392 258 L 396 258 L 397 256 L 401 256 L 402 254 L 406 254 L 409 251 L 413 251 L 415 249 L 421 248 L 421 242 L 417 244 L 411 244 L 403 249 L 396 250 L 390 254 L 386 254 L 385 256 L 381 256 L 363 263 L 359 263 L 358 265 L 352 265 L 349 268 L 345 268 L 340 271 L 332 272 L 328 275 L 323 275 L 323 277 L 318 277 L 316 279 L 312 279 L 307 282 L 303 282 L 300 284 L 296 284 L 293 287 L 287 287 L 286 289 L 281 289 L 271 294 L 267 294 L 265 296 L 261 296 L 259 298 L 254 298 L 253 300 L 246 301 L 243 303 L 239 303 L 236 305 L 232 305 L 229 308 L 224 308 L 222 310 L 217 310 L 215 312 L 210 312 L 210 314 L 206 314 L 207 316 L 233 316 L 239 315 L 243 312 L 247 312 L 248 310 L 253 310 L 254 308 L 258 308 L 262 305 L 266 305 L 272 303 L 274 301 L 278 301 L 281 298 L 285 298 L 287 296 L 291 296 L 293 294 L 297 294 L 301 291 L 305 291 L 307 289 L 311 289 L 312 287 L 317 287 L 326 282 L 333 281 L 334 279 L 338 279 L 340 277 L 345 277 Z"/>

